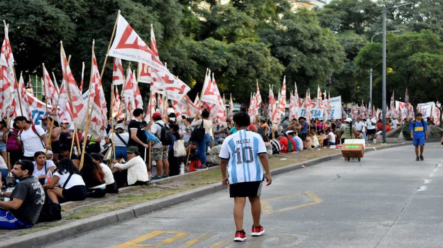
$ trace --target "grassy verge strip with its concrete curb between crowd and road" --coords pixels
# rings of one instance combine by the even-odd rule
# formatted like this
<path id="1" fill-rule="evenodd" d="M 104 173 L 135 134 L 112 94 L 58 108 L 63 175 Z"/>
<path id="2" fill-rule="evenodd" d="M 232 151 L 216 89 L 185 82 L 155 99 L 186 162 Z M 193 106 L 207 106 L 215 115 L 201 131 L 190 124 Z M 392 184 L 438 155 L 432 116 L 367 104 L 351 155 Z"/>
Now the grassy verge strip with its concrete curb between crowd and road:
<path id="1" fill-rule="evenodd" d="M 384 149 L 402 144 L 367 145 L 367 151 Z M 319 162 L 341 157 L 341 151 L 321 149 L 302 151 L 295 154 L 279 154 L 270 158 L 272 174 L 285 173 L 302 165 L 315 165 Z M 0 230 L 4 240 L 0 247 L 40 247 L 73 235 L 129 220 L 143 214 L 179 204 L 193 198 L 224 189 L 220 183 L 219 166 L 208 170 L 187 173 L 154 181 L 156 186 L 137 186 L 123 190 L 119 194 L 107 194 L 103 198 L 88 198 L 62 207 L 63 219 L 39 223 L 26 230 Z M 30 246 L 32 244 L 32 246 Z"/>

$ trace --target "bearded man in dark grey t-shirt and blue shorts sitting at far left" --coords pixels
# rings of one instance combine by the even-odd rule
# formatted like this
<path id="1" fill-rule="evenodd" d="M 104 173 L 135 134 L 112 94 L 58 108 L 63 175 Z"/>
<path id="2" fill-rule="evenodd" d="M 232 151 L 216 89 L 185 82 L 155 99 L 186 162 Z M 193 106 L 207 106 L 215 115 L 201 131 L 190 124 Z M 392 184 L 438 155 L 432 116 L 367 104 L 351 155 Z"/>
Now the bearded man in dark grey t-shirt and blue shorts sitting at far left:
<path id="1" fill-rule="evenodd" d="M 11 172 L 20 180 L 11 192 L 1 192 L 1 196 L 10 197 L 11 201 L 0 201 L 0 228 L 30 228 L 38 220 L 45 202 L 45 192 L 36 177 L 32 176 L 34 165 L 29 160 L 19 160 Z"/>

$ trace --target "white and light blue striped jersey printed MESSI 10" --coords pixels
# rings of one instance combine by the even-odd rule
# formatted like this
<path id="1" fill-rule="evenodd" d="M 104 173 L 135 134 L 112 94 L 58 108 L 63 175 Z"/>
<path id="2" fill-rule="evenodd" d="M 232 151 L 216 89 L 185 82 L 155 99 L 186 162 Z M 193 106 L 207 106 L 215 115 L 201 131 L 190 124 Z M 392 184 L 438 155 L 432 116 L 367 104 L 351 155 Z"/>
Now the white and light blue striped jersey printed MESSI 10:
<path id="1" fill-rule="evenodd" d="M 263 166 L 258 157 L 260 153 L 266 153 L 266 146 L 257 133 L 239 130 L 226 137 L 219 157 L 229 160 L 229 184 L 262 181 Z"/>

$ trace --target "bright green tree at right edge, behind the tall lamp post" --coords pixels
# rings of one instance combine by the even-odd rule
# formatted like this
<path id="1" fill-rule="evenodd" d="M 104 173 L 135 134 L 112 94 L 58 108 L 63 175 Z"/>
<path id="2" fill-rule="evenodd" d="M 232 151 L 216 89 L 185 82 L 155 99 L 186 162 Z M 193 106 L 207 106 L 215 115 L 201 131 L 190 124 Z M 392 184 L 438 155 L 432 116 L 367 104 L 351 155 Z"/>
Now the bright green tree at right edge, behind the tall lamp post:
<path id="1" fill-rule="evenodd" d="M 408 32 L 400 35 L 389 34 L 386 43 L 386 67 L 391 68 L 386 75 L 388 92 L 398 92 L 402 96 L 408 88 L 410 102 L 415 106 L 420 102 L 443 99 L 439 89 L 443 86 L 443 42 L 438 34 L 430 30 L 420 33 Z M 355 62 L 361 73 L 367 74 L 374 68 L 376 85 L 381 82 L 381 44 L 368 44 L 363 47 Z M 381 88 L 375 87 L 375 95 L 381 95 Z M 390 94 L 387 94 L 389 97 Z M 396 98 L 398 99 L 398 98 Z M 402 96 L 403 99 L 403 96 Z M 381 98 L 374 102 L 380 105 Z"/>

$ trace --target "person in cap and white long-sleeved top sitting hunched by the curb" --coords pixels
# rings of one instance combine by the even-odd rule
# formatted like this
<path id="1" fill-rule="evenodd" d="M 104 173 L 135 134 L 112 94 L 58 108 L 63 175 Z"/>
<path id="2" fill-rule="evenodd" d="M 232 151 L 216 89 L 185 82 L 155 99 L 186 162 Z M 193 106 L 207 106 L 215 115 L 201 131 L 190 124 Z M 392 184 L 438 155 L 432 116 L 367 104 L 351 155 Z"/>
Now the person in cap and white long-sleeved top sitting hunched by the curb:
<path id="1" fill-rule="evenodd" d="M 150 178 L 148 171 L 146 170 L 145 161 L 139 156 L 137 146 L 129 146 L 127 148 L 126 164 L 118 163 L 117 160 L 113 160 L 114 168 L 117 169 L 114 172 L 114 178 L 117 181 L 117 186 L 121 188 L 123 185 L 146 185 L 149 183 Z"/>

